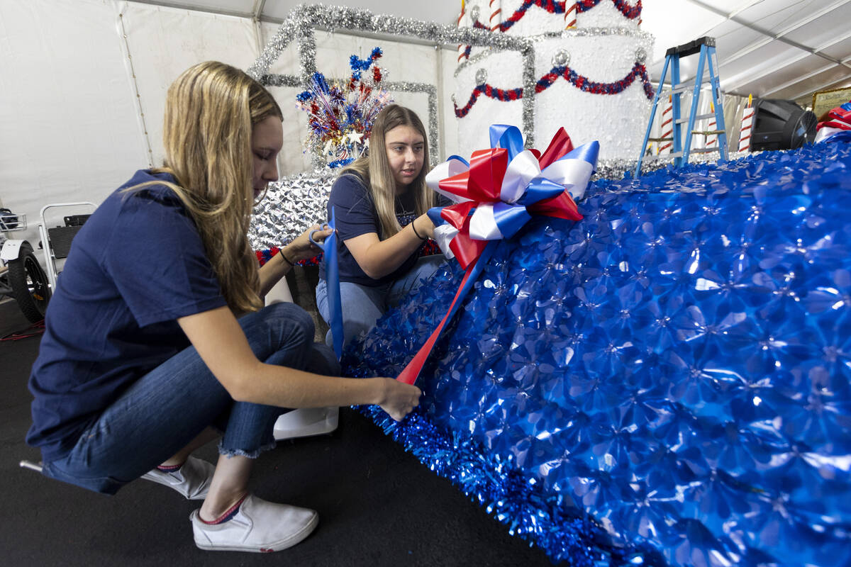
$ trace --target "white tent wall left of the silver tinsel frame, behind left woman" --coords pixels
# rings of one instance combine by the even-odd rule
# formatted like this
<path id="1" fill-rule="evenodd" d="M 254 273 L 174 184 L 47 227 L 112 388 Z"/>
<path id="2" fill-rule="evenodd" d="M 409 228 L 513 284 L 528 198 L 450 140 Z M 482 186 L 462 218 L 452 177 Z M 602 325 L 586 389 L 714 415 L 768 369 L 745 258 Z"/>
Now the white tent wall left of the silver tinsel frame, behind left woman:
<path id="1" fill-rule="evenodd" d="M 98 204 L 162 163 L 170 82 L 202 60 L 247 68 L 259 53 L 252 30 L 244 18 L 140 3 L 3 0 L 0 191 L 28 222 L 14 237 L 35 244 L 44 205 Z"/>

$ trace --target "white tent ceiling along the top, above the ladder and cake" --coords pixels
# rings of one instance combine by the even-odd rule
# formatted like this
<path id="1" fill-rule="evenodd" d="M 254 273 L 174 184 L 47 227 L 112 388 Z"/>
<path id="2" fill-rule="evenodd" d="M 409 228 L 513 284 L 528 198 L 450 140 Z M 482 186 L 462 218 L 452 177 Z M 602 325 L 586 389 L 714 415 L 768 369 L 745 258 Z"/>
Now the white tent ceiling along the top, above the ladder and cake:
<path id="1" fill-rule="evenodd" d="M 302 1 L 147 3 L 278 22 Z M 460 0 L 347 0 L 340 4 L 445 24 L 454 23 L 460 10 Z M 717 41 L 724 93 L 797 99 L 806 104 L 817 90 L 851 85 L 851 0 L 643 0 L 642 20 L 642 29 L 656 37 L 649 65 L 654 81 L 662 71 L 667 48 L 710 36 Z M 683 80 L 694 77 L 697 59 L 681 62 Z"/>

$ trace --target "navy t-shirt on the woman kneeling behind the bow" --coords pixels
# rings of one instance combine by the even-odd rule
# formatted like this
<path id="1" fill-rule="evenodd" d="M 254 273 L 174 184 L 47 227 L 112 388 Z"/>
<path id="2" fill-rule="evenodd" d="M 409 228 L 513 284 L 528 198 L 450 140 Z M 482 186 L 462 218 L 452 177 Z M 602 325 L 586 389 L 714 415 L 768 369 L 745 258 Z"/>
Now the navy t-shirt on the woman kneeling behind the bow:
<path id="1" fill-rule="evenodd" d="M 356 173 L 341 175 L 328 196 L 328 218 L 334 207 L 334 223 L 337 227 L 337 258 L 340 266 L 340 281 L 351 281 L 362 286 L 380 286 L 389 281 L 397 281 L 414 267 L 420 254 L 415 250 L 392 274 L 374 280 L 364 273 L 357 260 L 351 255 L 345 241 L 355 236 L 374 232 L 379 240 L 384 240 L 381 222 L 372 196 L 363 179 Z M 411 191 L 399 196 L 396 201 L 396 218 L 401 226 L 407 226 L 417 218 L 414 195 Z M 325 264 L 319 268 L 319 277 L 325 279 Z"/>

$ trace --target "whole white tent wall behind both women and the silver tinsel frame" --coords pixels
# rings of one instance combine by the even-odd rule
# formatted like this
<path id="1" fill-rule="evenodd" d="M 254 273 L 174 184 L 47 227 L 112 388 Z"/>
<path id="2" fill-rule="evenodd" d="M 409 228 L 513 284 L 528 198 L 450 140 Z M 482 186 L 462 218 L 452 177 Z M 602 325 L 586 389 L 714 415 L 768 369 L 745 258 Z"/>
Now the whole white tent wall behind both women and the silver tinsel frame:
<path id="1" fill-rule="evenodd" d="M 162 163 L 168 85 L 203 60 L 247 69 L 277 28 L 118 0 L 0 2 L 0 199 L 28 220 L 26 231 L 12 235 L 37 245 L 44 205 L 98 204 L 136 169 Z M 316 32 L 316 43 L 317 70 L 326 77 L 348 77 L 350 55 L 366 57 L 377 45 L 387 80 L 436 85 L 441 155 L 432 161 L 455 151 L 454 113 L 443 88 L 452 84 L 454 48 L 326 31 Z M 300 74 L 295 43 L 269 72 Z M 281 175 L 311 167 L 302 147 L 306 115 L 294 104 L 300 90 L 271 88 L 285 115 Z M 391 95 L 429 128 L 426 94 Z"/>

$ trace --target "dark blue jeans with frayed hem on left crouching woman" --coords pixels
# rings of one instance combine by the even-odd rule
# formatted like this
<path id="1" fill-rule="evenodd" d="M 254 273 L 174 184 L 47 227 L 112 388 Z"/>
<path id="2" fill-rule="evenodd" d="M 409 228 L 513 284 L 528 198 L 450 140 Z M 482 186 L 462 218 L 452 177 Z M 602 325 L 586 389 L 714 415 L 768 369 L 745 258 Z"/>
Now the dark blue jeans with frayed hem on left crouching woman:
<path id="1" fill-rule="evenodd" d="M 339 375 L 334 353 L 313 343 L 313 320 L 294 303 L 275 303 L 239 320 L 258 359 Z M 288 410 L 236 402 L 194 347 L 140 377 L 83 431 L 69 453 L 45 462 L 53 479 L 106 494 L 174 456 L 210 426 L 222 455 L 256 457 L 275 446 L 272 428 Z"/>

